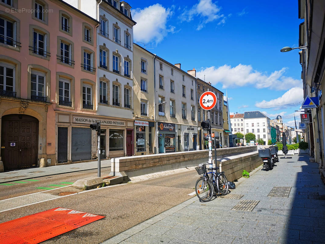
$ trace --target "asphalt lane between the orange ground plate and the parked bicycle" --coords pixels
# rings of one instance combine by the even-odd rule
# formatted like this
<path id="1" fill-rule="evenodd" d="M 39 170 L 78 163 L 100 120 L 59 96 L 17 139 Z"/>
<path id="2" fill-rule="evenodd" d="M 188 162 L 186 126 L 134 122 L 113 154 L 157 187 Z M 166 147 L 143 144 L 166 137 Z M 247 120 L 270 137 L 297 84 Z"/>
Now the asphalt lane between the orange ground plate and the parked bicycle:
<path id="1" fill-rule="evenodd" d="M 191 197 L 196 197 L 188 194 L 194 191 L 198 177 L 197 172 L 192 170 L 138 183 L 84 191 L 2 212 L 0 223 L 56 207 L 68 208 L 102 215 L 105 218 L 43 243 L 100 243 Z"/>

